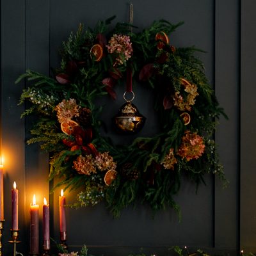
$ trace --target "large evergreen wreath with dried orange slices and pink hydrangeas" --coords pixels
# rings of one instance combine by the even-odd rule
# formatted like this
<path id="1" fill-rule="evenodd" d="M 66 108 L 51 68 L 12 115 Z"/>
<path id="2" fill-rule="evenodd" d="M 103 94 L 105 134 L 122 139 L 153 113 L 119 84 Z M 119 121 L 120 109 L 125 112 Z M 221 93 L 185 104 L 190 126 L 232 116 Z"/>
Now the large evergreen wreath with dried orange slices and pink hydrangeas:
<path id="1" fill-rule="evenodd" d="M 167 35 L 182 22 L 159 20 L 133 33 L 131 24 L 109 29 L 112 19 L 95 29 L 80 24 L 63 42 L 60 68 L 52 69 L 51 77 L 27 70 L 17 79 L 30 81 L 20 97 L 20 103 L 31 102 L 22 116 L 36 116 L 28 143 L 39 142 L 50 152 L 49 179 L 60 178 L 57 187 L 79 189 L 76 207 L 104 200 L 119 216 L 142 201 L 154 212 L 168 205 L 179 211 L 173 195 L 182 177 L 196 185 L 206 173 L 225 180 L 213 140 L 216 120 L 225 114 L 195 57 L 198 50 L 169 44 Z M 154 93 L 161 127 L 129 146 L 102 136 L 100 120 L 99 99 L 115 99 L 124 77 Z M 127 104 L 131 107 L 131 100 Z M 125 132 L 133 132 L 136 122 Z"/>

